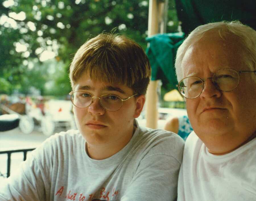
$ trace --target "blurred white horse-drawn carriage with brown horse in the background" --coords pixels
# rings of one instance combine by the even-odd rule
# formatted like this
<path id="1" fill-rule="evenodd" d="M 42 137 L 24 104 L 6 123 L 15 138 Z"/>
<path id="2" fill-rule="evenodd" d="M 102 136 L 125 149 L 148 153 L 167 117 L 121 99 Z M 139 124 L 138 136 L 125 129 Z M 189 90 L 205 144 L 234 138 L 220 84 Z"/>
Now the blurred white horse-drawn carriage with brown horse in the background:
<path id="1" fill-rule="evenodd" d="M 70 129 L 75 127 L 73 121 L 72 103 L 66 100 L 49 100 L 44 102 L 42 97 L 32 101 L 30 97 L 24 102 L 1 102 L 2 114 L 16 114 L 19 118 L 19 128 L 23 133 L 31 133 L 38 125 L 44 135 L 50 136 L 56 127 Z"/>

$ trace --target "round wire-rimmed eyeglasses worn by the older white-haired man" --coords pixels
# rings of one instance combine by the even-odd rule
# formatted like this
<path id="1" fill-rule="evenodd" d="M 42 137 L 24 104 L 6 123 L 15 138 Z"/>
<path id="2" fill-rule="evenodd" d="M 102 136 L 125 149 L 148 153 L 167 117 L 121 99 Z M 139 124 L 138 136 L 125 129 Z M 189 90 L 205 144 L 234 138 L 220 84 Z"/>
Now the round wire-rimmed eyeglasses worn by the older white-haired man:
<path id="1" fill-rule="evenodd" d="M 237 72 L 232 68 L 220 69 L 214 73 L 212 83 L 221 91 L 233 91 L 239 84 L 240 73 L 255 73 L 256 71 L 241 70 Z M 205 86 L 205 80 L 196 76 L 183 78 L 178 85 L 179 93 L 186 99 L 194 99 L 201 95 Z"/>

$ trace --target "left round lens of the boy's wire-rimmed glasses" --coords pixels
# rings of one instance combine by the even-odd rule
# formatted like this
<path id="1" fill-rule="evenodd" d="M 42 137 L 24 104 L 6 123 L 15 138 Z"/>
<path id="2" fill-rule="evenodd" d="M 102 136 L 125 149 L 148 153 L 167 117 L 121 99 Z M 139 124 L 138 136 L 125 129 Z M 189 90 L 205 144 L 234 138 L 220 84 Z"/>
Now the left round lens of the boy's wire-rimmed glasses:
<path id="1" fill-rule="evenodd" d="M 92 102 L 92 95 L 84 91 L 76 91 L 72 94 L 71 101 L 78 108 L 86 108 Z"/>

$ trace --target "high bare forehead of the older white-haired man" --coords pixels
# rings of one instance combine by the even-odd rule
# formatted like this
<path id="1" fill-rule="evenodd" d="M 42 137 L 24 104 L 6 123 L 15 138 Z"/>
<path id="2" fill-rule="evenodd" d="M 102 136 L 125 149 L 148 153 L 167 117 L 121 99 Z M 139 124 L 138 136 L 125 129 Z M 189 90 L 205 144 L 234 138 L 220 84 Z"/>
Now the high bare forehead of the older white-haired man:
<path id="1" fill-rule="evenodd" d="M 184 77 L 198 76 L 197 74 L 205 67 L 208 67 L 212 73 L 221 68 L 240 70 L 241 68 L 237 66 L 242 65 L 241 55 L 232 41 L 232 39 L 223 41 L 223 39 L 215 38 L 207 41 L 202 38 L 193 43 L 184 55 Z"/>

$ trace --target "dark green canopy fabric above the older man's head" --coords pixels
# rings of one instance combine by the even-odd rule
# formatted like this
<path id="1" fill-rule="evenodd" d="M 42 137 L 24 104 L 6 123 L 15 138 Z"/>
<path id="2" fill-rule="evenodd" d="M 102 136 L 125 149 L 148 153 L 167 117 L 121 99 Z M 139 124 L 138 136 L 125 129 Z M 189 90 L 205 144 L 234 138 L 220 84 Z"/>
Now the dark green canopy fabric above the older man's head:
<path id="1" fill-rule="evenodd" d="M 256 30 L 255 0 L 175 0 L 182 31 L 188 35 L 209 22 L 239 20 Z"/>

